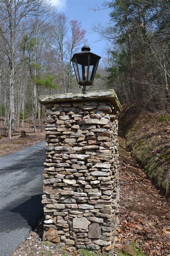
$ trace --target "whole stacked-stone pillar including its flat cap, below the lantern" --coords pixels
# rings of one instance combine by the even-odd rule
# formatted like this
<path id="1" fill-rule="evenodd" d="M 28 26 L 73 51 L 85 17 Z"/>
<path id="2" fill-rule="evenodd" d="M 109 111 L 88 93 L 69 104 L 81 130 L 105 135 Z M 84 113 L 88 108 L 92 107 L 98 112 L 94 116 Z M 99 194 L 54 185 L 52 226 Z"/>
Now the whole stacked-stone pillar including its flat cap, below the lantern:
<path id="1" fill-rule="evenodd" d="M 112 250 L 119 163 L 114 90 L 41 96 L 46 106 L 43 239 Z"/>

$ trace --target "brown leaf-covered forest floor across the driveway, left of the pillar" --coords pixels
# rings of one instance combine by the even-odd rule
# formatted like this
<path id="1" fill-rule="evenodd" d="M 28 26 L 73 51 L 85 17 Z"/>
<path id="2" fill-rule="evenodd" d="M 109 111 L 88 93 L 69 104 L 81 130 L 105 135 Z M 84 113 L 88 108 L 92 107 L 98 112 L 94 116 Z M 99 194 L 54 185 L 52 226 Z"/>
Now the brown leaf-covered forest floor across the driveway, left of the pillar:
<path id="1" fill-rule="evenodd" d="M 4 123 L 2 123 L 4 127 Z M 5 156 L 17 152 L 18 150 L 30 147 L 33 144 L 42 142 L 45 140 L 45 132 L 41 133 L 41 127 L 37 127 L 37 133 L 34 133 L 33 124 L 29 129 L 28 123 L 25 122 L 24 127 L 16 129 L 15 133 L 12 133 L 11 139 L 8 138 L 7 131 L 0 127 L 0 135 L 6 133 L 7 137 L 1 136 L 0 138 L 0 156 Z M 25 137 L 21 137 L 21 131 L 26 132 Z"/>

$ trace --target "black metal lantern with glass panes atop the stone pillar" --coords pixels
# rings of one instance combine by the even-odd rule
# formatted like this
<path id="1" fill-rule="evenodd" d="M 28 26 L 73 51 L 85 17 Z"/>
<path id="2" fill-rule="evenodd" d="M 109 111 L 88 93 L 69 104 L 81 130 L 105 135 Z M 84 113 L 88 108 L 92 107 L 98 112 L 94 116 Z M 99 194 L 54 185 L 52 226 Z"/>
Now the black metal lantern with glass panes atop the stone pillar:
<path id="1" fill-rule="evenodd" d="M 91 53 L 87 45 L 81 48 L 81 52 L 73 55 L 71 61 L 76 74 L 77 83 L 83 92 L 86 92 L 86 86 L 93 85 L 100 58 L 99 55 Z"/>

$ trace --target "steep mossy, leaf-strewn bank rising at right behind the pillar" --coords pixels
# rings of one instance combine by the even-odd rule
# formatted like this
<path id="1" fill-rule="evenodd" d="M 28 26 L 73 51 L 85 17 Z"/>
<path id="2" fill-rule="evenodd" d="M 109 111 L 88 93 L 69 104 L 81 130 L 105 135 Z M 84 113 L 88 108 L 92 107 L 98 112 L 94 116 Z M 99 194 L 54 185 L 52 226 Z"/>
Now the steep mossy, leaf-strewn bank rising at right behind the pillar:
<path id="1" fill-rule="evenodd" d="M 166 195 L 170 183 L 169 121 L 167 113 L 139 114 L 133 105 L 124 107 L 119 115 L 119 131 L 127 148 L 147 177 Z"/>

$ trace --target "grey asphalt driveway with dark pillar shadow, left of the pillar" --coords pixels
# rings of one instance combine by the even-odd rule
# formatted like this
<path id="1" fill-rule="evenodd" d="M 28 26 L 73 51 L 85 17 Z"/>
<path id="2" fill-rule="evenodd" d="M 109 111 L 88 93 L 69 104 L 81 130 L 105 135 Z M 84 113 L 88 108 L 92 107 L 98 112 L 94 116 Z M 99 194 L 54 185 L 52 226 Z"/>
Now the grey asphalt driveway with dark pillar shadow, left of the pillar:
<path id="1" fill-rule="evenodd" d="M 9 256 L 43 215 L 45 142 L 0 157 L 0 256 Z"/>

